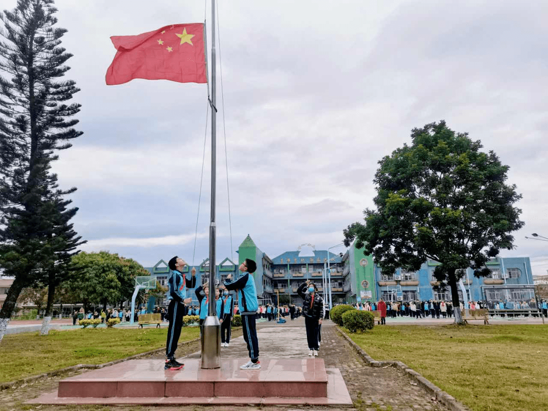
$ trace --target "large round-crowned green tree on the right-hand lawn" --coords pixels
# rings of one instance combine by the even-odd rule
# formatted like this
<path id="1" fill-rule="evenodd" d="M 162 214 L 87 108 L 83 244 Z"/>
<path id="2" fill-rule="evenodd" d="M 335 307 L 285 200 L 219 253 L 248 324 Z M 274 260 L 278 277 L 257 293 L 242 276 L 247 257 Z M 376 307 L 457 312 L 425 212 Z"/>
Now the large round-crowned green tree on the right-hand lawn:
<path id="1" fill-rule="evenodd" d="M 486 262 L 513 248 L 511 233 L 524 224 L 514 206 L 521 195 L 505 183 L 509 166 L 444 121 L 415 128 L 411 139 L 379 161 L 376 208 L 364 211 L 365 224 L 344 230 L 345 245 L 357 239 L 356 246 L 365 247 L 383 272 L 418 271 L 427 260 L 439 262 L 433 277 L 442 289 L 449 286 L 460 323 L 457 284 L 463 269 L 486 277 Z"/>

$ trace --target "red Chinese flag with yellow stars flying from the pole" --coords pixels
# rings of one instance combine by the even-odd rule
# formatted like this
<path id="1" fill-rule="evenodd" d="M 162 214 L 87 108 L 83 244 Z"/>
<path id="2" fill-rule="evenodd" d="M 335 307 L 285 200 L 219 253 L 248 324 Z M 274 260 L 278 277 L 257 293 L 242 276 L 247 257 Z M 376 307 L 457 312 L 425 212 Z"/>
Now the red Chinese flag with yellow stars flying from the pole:
<path id="1" fill-rule="evenodd" d="M 207 83 L 203 23 L 174 24 L 111 40 L 118 52 L 106 72 L 107 85 L 134 78 Z"/>

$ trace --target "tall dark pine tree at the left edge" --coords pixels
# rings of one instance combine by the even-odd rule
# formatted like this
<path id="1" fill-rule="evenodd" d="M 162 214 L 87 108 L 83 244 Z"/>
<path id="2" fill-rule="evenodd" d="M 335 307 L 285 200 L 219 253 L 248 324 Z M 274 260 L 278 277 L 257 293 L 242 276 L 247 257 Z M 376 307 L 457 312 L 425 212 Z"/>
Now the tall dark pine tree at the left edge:
<path id="1" fill-rule="evenodd" d="M 82 134 L 70 119 L 80 105 L 64 103 L 79 89 L 59 80 L 72 55 L 60 47 L 66 30 L 54 27 L 55 12 L 53 0 L 18 0 L 0 14 L 0 71 L 10 76 L 0 76 L 0 266 L 15 277 L 0 310 L 0 341 L 21 290 L 52 282 L 52 267 L 57 275 L 79 240 L 68 224 L 76 209 L 62 200 L 76 188 L 60 190 L 50 172 L 57 151 Z"/>

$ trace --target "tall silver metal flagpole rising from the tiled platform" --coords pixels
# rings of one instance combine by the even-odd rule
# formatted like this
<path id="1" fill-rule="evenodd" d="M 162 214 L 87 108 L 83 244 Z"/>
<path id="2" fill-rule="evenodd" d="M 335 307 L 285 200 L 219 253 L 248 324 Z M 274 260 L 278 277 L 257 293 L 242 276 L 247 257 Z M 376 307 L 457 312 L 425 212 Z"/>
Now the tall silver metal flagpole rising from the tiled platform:
<path id="1" fill-rule="evenodd" d="M 221 367 L 221 325 L 216 316 L 215 301 L 215 173 L 216 173 L 216 127 L 217 109 L 215 84 L 215 0 L 211 2 L 212 13 L 212 45 L 211 45 L 211 221 L 209 224 L 209 306 L 208 316 L 202 328 L 202 368 Z"/>

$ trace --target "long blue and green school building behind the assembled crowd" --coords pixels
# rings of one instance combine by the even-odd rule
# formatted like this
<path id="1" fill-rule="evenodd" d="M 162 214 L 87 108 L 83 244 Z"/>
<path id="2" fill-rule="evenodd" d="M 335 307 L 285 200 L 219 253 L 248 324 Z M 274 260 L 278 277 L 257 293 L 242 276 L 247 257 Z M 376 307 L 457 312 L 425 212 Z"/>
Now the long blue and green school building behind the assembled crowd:
<path id="1" fill-rule="evenodd" d="M 378 301 L 381 297 L 386 301 L 452 299 L 449 289 L 444 292 L 434 289 L 438 284 L 433 278 L 433 271 L 439 265 L 436 261 L 425 262 L 416 272 L 398 268 L 396 273 L 388 274 L 373 262 L 372 256 L 364 254 L 363 249 L 357 249 L 355 244 L 344 254 L 314 249 L 304 252 L 299 247 L 271 258 L 259 249 L 249 235 L 238 247 L 238 263 L 225 258 L 215 267 L 216 280 L 222 282 L 228 274 L 235 277 L 239 264 L 246 258 L 257 263 L 253 277 L 259 303 L 276 303 L 279 298 L 283 304 L 298 305 L 302 300 L 296 292 L 297 288 L 307 279 L 317 285 L 319 294 L 328 295 L 330 288 L 333 305 Z M 486 266 L 491 274 L 484 278 L 474 277 L 470 267 L 465 269 L 463 285 L 469 300 L 521 302 L 534 298 L 529 257 L 497 257 L 487 262 Z M 209 259 L 195 267 L 197 284 L 205 283 L 209 278 Z M 160 284 L 167 285 L 172 273 L 165 261 L 161 260 L 147 269 L 151 275 L 156 276 Z M 185 267 L 185 273 L 191 269 L 192 266 Z M 460 301 L 463 301 L 462 291 L 459 289 L 458 292 Z M 197 305 L 193 292 L 189 292 L 189 297 Z M 156 305 L 165 305 L 165 299 L 159 299 Z"/>

